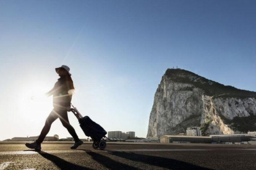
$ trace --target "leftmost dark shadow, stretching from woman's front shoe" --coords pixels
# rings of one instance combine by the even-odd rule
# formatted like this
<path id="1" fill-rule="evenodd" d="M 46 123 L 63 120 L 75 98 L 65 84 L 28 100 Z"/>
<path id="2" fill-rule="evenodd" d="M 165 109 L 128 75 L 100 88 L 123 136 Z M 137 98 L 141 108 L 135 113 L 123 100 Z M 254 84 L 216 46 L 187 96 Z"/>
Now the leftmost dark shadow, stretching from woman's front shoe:
<path id="1" fill-rule="evenodd" d="M 46 158 L 47 160 L 52 161 L 56 166 L 58 166 L 59 169 L 90 169 L 83 166 L 79 166 L 74 163 L 70 163 L 68 161 L 65 161 L 59 158 L 58 156 L 51 155 L 43 151 L 38 151 L 38 150 L 23 150 L 23 151 L 35 151 L 39 153 L 41 156 L 43 156 L 44 158 Z"/>

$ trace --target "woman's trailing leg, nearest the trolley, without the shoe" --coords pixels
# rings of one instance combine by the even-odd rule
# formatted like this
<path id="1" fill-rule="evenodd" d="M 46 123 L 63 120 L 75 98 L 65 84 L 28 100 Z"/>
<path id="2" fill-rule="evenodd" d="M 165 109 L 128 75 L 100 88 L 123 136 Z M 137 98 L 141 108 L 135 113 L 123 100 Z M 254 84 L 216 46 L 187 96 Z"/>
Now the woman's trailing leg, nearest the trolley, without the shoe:
<path id="1" fill-rule="evenodd" d="M 67 131 L 69 131 L 69 134 L 74 138 L 75 142 L 79 142 L 80 139 L 77 136 L 77 133 L 75 132 L 74 127 L 72 127 L 71 124 L 69 123 L 69 118 L 67 116 L 67 110 L 60 111 L 59 119 L 61 120 L 62 125 L 67 128 Z"/>

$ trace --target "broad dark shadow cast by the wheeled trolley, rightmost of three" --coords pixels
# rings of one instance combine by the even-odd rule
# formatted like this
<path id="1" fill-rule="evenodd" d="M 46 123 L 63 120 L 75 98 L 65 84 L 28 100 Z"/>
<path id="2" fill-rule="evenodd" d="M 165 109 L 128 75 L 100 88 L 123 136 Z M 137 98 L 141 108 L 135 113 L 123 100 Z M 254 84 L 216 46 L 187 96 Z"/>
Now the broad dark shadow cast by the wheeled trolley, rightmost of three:
<path id="1" fill-rule="evenodd" d="M 209 168 L 203 168 L 202 166 L 197 166 L 195 164 L 186 163 L 184 161 L 173 160 L 170 158 L 163 158 L 158 156 L 151 155 L 141 155 L 137 153 L 128 153 L 128 152 L 109 152 L 114 156 L 119 156 L 131 161 L 137 161 L 145 164 L 151 164 L 153 166 L 158 166 L 161 168 L 168 169 L 202 169 L 210 170 Z"/>

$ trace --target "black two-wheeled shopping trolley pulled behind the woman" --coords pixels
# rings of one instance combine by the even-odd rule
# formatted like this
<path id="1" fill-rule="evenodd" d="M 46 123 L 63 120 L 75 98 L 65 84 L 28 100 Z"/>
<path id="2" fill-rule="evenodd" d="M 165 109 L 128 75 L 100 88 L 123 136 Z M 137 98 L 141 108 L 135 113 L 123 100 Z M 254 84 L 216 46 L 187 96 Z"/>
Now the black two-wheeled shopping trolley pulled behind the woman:
<path id="1" fill-rule="evenodd" d="M 103 129 L 103 127 L 101 127 L 99 124 L 92 121 L 89 116 L 83 117 L 77 110 L 77 108 L 74 107 L 74 105 L 72 105 L 72 107 L 73 108 L 70 108 L 70 110 L 79 120 L 79 124 L 83 132 L 86 136 L 92 138 L 92 147 L 95 149 L 100 148 L 101 150 L 104 150 L 106 148 L 106 139 L 108 139 L 108 137 L 106 137 L 107 132 L 105 131 L 105 129 Z M 110 141 L 110 139 L 108 140 Z"/>

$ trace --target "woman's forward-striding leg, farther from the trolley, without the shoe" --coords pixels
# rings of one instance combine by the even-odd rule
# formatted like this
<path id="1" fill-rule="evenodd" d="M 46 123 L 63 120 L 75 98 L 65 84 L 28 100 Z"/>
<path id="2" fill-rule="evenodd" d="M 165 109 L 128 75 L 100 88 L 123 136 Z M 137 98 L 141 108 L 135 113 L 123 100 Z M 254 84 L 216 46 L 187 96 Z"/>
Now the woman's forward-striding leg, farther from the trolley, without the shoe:
<path id="1" fill-rule="evenodd" d="M 51 128 L 51 124 L 58 119 L 58 115 L 56 114 L 56 111 L 52 110 L 49 114 L 48 118 L 45 121 L 45 126 L 43 127 L 40 136 L 36 140 L 36 144 L 41 144 L 43 140 L 45 139 L 46 135 L 49 132 L 49 129 Z"/>

